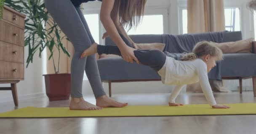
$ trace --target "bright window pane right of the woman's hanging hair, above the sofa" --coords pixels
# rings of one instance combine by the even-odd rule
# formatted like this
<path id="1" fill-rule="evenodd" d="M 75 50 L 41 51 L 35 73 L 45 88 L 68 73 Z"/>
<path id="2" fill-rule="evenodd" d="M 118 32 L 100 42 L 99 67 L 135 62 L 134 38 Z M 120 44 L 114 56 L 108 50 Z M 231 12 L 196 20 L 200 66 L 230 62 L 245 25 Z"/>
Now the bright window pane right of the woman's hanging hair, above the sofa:
<path id="1" fill-rule="evenodd" d="M 127 34 L 163 34 L 163 27 L 163 15 L 145 15 L 139 26 Z"/>

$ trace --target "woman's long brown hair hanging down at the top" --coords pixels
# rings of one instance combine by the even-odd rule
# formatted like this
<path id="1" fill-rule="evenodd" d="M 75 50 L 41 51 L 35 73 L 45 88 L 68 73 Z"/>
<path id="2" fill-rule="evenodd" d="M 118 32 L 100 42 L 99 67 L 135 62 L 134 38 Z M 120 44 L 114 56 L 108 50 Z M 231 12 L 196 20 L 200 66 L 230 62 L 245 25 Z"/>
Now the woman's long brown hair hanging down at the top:
<path id="1" fill-rule="evenodd" d="M 128 28 L 128 31 L 135 28 L 141 22 L 144 15 L 146 0 L 115 0 L 112 12 L 117 15 L 121 25 Z"/>

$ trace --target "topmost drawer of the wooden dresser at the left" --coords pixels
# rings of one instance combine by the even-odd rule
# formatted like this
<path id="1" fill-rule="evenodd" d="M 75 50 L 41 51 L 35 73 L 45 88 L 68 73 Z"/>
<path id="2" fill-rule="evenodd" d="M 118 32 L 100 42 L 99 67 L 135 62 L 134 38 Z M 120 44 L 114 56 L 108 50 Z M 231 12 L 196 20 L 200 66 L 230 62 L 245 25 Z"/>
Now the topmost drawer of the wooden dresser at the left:
<path id="1" fill-rule="evenodd" d="M 3 20 L 9 21 L 14 25 L 17 25 L 24 29 L 25 21 L 24 16 L 21 16 L 20 13 L 13 13 L 13 9 L 4 7 L 3 9 Z"/>

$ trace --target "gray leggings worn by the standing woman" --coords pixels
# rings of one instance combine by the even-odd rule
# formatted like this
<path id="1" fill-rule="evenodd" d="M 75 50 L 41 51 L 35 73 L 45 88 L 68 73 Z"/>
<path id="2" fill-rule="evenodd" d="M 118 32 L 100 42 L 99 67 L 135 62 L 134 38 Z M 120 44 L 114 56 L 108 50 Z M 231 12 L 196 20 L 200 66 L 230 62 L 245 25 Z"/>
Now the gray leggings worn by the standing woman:
<path id="1" fill-rule="evenodd" d="M 84 70 L 95 97 L 106 95 L 95 55 L 80 59 L 83 51 L 95 42 L 80 8 L 75 8 L 70 0 L 45 0 L 45 7 L 75 48 L 71 62 L 71 97 L 83 97 Z"/>

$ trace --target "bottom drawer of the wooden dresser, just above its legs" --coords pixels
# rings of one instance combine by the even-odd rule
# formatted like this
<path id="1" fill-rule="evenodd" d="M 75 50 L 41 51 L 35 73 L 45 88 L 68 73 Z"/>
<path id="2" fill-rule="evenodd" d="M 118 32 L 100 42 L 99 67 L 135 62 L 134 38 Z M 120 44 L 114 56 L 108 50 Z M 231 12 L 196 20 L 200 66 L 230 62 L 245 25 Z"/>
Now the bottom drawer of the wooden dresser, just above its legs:
<path id="1" fill-rule="evenodd" d="M 0 61 L 0 79 L 24 79 L 24 64 Z"/>

